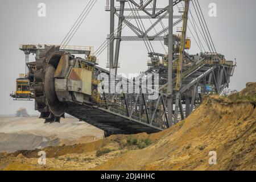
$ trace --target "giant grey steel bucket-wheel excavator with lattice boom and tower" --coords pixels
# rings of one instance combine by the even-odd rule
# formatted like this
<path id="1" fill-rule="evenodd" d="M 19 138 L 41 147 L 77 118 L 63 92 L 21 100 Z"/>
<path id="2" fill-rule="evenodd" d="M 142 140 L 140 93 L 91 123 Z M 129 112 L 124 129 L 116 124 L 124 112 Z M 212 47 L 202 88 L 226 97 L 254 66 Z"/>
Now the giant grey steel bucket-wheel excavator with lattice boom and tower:
<path id="1" fill-rule="evenodd" d="M 106 7 L 110 11 L 108 59 L 110 70 L 114 73 L 98 67 L 96 57 L 89 52 L 82 59 L 58 46 L 35 48 L 36 60 L 27 65 L 31 90 L 35 94 L 35 109 L 40 111 L 40 118 L 46 119 L 46 122 L 59 122 L 68 113 L 104 130 L 106 135 L 154 133 L 188 117 L 202 102 L 204 95 L 220 94 L 229 85 L 235 67 L 233 61 L 225 60 L 224 55 L 218 53 L 189 55 L 184 51 L 189 0 L 184 1 L 182 16 L 173 15 L 173 6 L 182 0 L 170 0 L 164 8 L 157 8 L 156 0 L 143 2 L 110 0 L 109 4 L 107 1 L 110 5 Z M 131 15 L 124 15 L 125 11 L 131 11 Z M 147 30 L 131 24 L 127 19 L 142 19 L 138 14 L 135 16 L 134 12 L 138 11 L 146 14 L 144 19 L 157 19 L 156 23 Z M 118 16 L 118 27 L 126 24 L 136 36 L 122 36 L 122 28 L 118 28 L 117 35 L 114 35 L 115 16 Z M 163 18 L 168 18 L 169 26 L 155 36 L 148 35 Z M 178 20 L 174 21 L 176 18 Z M 181 22 L 181 36 L 173 35 L 172 27 Z M 167 30 L 169 34 L 161 36 Z M 148 52 L 151 56 L 148 69 L 137 78 L 127 80 L 116 75 L 122 40 L 143 40 L 148 45 L 152 40 L 164 40 L 168 55 Z M 99 78 L 102 74 L 106 76 L 104 79 Z M 120 92 L 108 92 L 109 89 L 102 86 L 109 77 L 110 86 L 114 85 Z M 111 77 L 114 79 L 111 80 Z M 146 92 L 145 83 L 152 86 L 146 88 Z M 139 85 L 137 90 L 136 85 Z M 99 92 L 99 88 L 104 92 Z M 133 92 L 127 93 L 127 88 Z M 156 97 L 152 99 L 152 95 Z"/>

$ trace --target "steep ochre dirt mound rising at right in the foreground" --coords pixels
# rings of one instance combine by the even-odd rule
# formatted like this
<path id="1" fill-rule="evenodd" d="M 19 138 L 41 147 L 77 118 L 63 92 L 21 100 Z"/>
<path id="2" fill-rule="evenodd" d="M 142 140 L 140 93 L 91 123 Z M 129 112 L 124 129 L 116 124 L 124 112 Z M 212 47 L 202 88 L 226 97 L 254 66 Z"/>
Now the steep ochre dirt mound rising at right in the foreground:
<path id="1" fill-rule="evenodd" d="M 157 143 L 127 152 L 95 169 L 256 169 L 255 122 L 256 110 L 249 102 L 211 97 Z M 217 152 L 217 165 L 209 165 L 209 151 Z"/>

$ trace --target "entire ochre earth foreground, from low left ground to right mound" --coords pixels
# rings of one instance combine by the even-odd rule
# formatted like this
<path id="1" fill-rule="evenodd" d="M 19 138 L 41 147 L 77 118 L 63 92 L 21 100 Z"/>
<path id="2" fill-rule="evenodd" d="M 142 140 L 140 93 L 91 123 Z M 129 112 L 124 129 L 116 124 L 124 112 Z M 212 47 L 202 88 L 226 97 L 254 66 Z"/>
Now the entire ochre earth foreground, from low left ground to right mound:
<path id="1" fill-rule="evenodd" d="M 0 155 L 5 170 L 256 170 L 256 109 L 246 100 L 210 96 L 187 119 L 160 133 L 113 135 L 96 142 Z M 209 165 L 216 151 L 217 164 Z"/>

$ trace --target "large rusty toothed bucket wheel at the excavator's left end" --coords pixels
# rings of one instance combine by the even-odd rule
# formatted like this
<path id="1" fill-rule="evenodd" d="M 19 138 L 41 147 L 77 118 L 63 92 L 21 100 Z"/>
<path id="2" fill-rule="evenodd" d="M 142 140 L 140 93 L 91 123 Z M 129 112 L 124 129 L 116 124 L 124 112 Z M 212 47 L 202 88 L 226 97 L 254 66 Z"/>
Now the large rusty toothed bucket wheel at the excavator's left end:
<path id="1" fill-rule="evenodd" d="M 40 50 L 36 57 L 33 82 L 35 109 L 41 113 L 39 118 L 46 119 L 45 123 L 60 122 L 60 118 L 64 118 L 65 104 L 57 98 L 54 78 L 63 54 L 59 47 L 51 46 Z"/>

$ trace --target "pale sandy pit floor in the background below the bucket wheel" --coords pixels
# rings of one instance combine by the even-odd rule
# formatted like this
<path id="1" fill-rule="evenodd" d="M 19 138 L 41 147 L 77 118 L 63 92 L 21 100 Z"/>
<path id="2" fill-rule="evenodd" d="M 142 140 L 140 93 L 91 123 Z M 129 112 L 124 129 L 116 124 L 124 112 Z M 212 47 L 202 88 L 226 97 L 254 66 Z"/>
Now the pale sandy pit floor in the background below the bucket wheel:
<path id="1" fill-rule="evenodd" d="M 87 143 L 103 136 L 104 131 L 76 118 L 44 124 L 36 117 L 0 117 L 0 152 Z"/>

